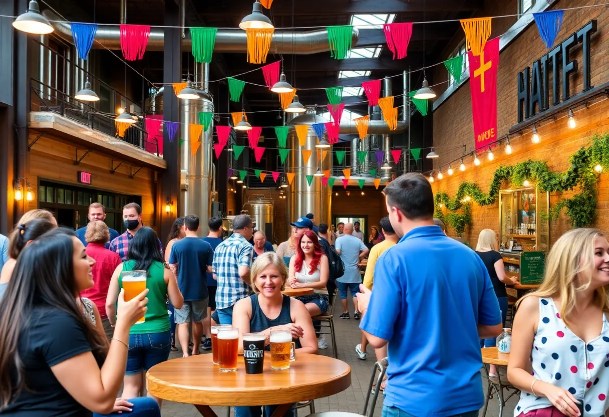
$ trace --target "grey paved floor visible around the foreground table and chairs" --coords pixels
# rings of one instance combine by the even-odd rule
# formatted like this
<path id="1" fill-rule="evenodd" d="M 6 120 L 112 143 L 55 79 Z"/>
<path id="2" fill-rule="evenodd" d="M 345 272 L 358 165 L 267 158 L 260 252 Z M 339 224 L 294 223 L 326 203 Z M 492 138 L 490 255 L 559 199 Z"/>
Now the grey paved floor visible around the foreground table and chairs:
<path id="1" fill-rule="evenodd" d="M 338 303 L 337 303 L 338 304 Z M 334 306 L 335 312 L 339 312 L 340 305 Z M 360 360 L 355 352 L 355 346 L 360 342 L 361 333 L 359 332 L 358 326 L 359 321 L 353 319 L 353 306 L 350 302 L 351 319 L 343 320 L 339 319 L 338 315 L 335 315 L 334 324 L 336 327 L 336 344 L 338 346 L 339 359 L 347 362 L 351 366 L 351 387 L 342 393 L 333 395 L 331 397 L 321 398 L 315 400 L 315 411 L 326 412 L 326 411 L 343 411 L 351 413 L 362 413 L 364 409 L 365 397 L 368 390 L 368 383 L 370 382 L 370 376 L 372 368 L 375 363 L 373 349 L 368 347 L 368 358 L 367 360 Z M 326 336 L 328 341 L 328 349 L 320 351 L 320 354 L 331 356 L 332 347 L 329 340 L 329 336 Z M 170 358 L 180 357 L 181 352 L 172 352 Z M 485 386 L 486 391 L 486 386 Z M 513 410 L 518 401 L 517 397 L 513 397 L 507 403 L 504 408 L 503 415 L 505 417 L 512 417 Z M 226 417 L 226 407 L 213 407 L 214 411 L 219 417 Z M 379 417 L 381 415 L 382 408 L 382 395 L 379 395 L 378 402 L 375 407 L 374 416 Z M 300 416 L 306 416 L 309 414 L 309 408 L 301 408 L 298 410 Z M 163 403 L 163 417 L 195 417 L 200 416 L 199 412 L 189 404 L 181 404 L 177 402 L 165 401 Z M 231 416 L 234 413 L 231 412 Z M 499 407 L 496 397 L 491 399 L 488 405 L 487 411 L 488 417 L 499 417 Z"/>

